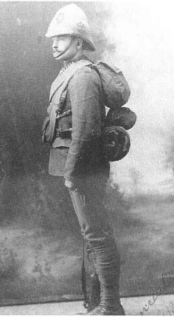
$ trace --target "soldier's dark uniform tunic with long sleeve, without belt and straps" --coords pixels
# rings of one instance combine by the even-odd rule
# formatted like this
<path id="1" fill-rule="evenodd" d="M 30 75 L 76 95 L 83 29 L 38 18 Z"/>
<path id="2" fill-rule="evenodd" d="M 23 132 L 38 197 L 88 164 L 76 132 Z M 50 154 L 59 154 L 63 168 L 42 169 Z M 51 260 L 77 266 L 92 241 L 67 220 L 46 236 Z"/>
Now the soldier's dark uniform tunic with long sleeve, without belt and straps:
<path id="1" fill-rule="evenodd" d="M 49 173 L 77 182 L 89 171 L 109 166 L 101 144 L 105 118 L 102 86 L 97 72 L 88 66 L 77 70 L 70 79 L 63 111 L 69 109 L 72 114 L 59 119 L 57 127 L 63 131 L 72 128 L 72 134 L 57 137 L 52 144 Z"/>

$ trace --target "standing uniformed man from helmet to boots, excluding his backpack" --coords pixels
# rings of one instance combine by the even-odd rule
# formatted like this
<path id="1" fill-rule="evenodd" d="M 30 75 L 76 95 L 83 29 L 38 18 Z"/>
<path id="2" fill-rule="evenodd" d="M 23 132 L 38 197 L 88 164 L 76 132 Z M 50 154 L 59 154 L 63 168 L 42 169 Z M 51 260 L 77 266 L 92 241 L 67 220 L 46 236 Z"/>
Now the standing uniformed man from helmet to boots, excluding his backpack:
<path id="1" fill-rule="evenodd" d="M 64 65 L 52 84 L 43 138 L 52 144 L 49 173 L 65 178 L 88 252 L 95 256 L 100 303 L 87 314 L 124 315 L 118 291 L 120 258 L 103 204 L 109 162 L 102 155 L 102 85 L 84 55 L 95 50 L 84 11 L 73 3 L 61 8 L 46 36 L 52 38 L 54 58 Z"/>

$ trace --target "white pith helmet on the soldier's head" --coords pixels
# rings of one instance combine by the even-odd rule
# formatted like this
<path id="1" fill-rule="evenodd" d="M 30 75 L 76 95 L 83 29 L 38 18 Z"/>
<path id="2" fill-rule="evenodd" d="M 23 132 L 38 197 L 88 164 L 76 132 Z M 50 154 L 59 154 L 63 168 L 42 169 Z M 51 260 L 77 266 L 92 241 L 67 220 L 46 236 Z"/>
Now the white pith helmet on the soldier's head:
<path id="1" fill-rule="evenodd" d="M 86 50 L 95 51 L 84 10 L 74 3 L 68 4 L 56 12 L 45 36 L 52 38 L 52 36 L 63 35 L 78 36 L 86 42 Z"/>

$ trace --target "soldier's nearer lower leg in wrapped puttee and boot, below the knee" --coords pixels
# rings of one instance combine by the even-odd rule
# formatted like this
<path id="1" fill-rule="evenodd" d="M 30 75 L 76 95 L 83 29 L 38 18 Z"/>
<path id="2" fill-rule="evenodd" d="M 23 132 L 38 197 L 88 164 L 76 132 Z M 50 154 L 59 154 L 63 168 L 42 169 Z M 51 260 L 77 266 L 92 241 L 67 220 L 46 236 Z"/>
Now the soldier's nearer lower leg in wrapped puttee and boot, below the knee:
<path id="1" fill-rule="evenodd" d="M 93 245 L 95 270 L 100 281 L 100 303 L 86 315 L 125 315 L 120 304 L 119 277 L 120 257 L 115 240 L 108 236 Z"/>

